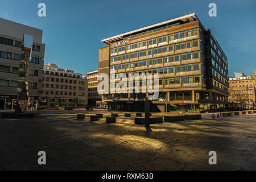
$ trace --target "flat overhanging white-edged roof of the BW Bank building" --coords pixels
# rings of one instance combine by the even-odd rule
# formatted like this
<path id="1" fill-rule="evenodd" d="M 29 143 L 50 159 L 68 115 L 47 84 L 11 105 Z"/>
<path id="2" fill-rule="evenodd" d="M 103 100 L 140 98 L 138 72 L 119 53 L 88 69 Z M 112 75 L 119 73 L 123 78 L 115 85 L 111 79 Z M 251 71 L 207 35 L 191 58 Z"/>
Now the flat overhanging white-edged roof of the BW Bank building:
<path id="1" fill-rule="evenodd" d="M 144 28 L 139 28 L 137 30 L 126 32 L 126 33 L 120 34 L 120 35 L 116 35 L 116 36 L 113 36 L 111 38 L 103 39 L 103 40 L 101 40 L 101 42 L 106 43 L 106 44 L 110 44 L 110 43 L 113 43 L 113 42 L 117 42 L 119 40 L 123 40 L 127 36 L 133 36 L 133 35 L 137 35 L 137 34 L 145 34 L 145 33 L 151 32 L 151 31 L 152 32 L 153 31 L 158 31 L 159 28 L 172 27 L 172 26 L 175 26 L 176 23 L 179 23 L 179 22 L 185 23 L 185 22 L 190 22 L 190 21 L 193 21 L 193 20 L 199 20 L 195 13 L 185 15 L 185 16 L 180 16 L 178 18 L 170 19 L 170 20 L 167 20 L 167 21 L 164 21 L 164 22 L 152 24 L 151 26 L 147 26 L 147 27 L 144 27 Z"/>

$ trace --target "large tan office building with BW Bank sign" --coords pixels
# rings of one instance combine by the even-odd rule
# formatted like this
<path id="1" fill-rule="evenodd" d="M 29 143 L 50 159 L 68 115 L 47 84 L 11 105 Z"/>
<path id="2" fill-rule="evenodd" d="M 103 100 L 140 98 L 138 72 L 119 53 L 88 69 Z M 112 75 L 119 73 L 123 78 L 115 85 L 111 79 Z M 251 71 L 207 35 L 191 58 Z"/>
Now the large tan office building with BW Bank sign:
<path id="1" fill-rule="evenodd" d="M 228 107 L 228 59 L 196 14 L 102 42 L 108 46 L 99 48 L 99 74 L 106 73 L 110 79 L 110 69 L 127 77 L 129 73 L 159 73 L 159 98 L 151 102 L 152 111 L 164 111 L 165 105 L 168 111 Z M 147 96 L 148 93 L 102 94 L 102 102 L 111 110 L 144 110 Z"/>

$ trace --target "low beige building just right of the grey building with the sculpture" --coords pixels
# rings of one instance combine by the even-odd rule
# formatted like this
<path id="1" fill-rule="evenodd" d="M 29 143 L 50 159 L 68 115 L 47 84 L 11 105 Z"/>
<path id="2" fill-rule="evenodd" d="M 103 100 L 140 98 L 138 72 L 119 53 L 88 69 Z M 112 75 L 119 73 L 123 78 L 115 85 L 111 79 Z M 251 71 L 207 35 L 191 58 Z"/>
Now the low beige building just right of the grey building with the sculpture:
<path id="1" fill-rule="evenodd" d="M 84 107 L 87 103 L 87 86 L 88 82 L 81 73 L 58 68 L 56 64 L 44 65 L 40 108 Z"/>

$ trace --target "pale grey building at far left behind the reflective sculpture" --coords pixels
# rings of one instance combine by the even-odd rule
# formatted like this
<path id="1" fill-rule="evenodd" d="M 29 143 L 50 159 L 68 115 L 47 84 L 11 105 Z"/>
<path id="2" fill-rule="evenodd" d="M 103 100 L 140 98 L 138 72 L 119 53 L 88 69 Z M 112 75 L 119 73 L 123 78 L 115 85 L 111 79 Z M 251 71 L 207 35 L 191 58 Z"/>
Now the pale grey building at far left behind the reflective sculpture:
<path id="1" fill-rule="evenodd" d="M 42 86 L 44 49 L 43 31 L 0 18 L 0 109 L 14 109 L 17 98 L 18 69 L 23 35 L 32 35 L 34 43 L 28 65 L 28 98 L 38 106 Z"/>

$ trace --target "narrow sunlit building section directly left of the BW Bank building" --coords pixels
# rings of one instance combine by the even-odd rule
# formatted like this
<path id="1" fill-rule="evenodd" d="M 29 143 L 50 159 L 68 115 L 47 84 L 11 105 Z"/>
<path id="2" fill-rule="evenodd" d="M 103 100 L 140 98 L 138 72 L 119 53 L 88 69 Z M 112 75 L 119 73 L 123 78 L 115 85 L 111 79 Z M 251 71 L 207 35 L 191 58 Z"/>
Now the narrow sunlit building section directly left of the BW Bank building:
<path id="1" fill-rule="evenodd" d="M 101 101 L 101 96 L 98 95 L 98 71 L 87 73 L 88 80 L 88 105 L 96 107 L 96 101 Z M 98 107 L 101 108 L 100 105 Z"/>

